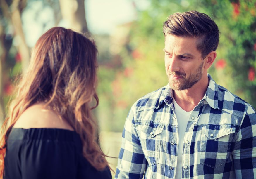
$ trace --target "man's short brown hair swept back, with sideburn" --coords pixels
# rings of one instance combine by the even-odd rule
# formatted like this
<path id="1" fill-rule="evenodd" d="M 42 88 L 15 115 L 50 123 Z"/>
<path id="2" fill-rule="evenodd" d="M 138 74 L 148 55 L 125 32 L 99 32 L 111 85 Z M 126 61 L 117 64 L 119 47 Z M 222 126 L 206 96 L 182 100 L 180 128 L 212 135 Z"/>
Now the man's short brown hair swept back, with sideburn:
<path id="1" fill-rule="evenodd" d="M 208 53 L 215 51 L 219 44 L 219 29 L 216 23 L 206 14 L 198 11 L 174 13 L 163 25 L 164 37 L 198 37 L 197 49 L 204 59 Z"/>

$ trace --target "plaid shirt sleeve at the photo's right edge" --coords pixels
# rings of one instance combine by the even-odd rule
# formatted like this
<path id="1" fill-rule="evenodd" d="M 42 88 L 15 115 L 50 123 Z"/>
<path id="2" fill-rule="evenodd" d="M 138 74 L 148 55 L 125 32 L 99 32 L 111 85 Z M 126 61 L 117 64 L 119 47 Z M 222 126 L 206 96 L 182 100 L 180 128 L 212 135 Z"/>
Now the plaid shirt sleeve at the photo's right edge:
<path id="1" fill-rule="evenodd" d="M 232 154 L 236 178 L 256 178 L 256 114 L 250 105 Z"/>

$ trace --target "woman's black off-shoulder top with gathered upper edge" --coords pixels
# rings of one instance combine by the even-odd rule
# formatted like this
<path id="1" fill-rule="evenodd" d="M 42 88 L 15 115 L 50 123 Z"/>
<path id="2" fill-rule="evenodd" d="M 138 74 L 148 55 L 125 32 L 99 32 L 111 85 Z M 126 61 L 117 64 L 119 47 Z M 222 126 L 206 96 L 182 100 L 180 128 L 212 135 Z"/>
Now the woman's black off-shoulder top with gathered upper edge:
<path id="1" fill-rule="evenodd" d="M 109 168 L 97 171 L 82 154 L 75 131 L 12 128 L 6 142 L 4 179 L 110 179 Z"/>

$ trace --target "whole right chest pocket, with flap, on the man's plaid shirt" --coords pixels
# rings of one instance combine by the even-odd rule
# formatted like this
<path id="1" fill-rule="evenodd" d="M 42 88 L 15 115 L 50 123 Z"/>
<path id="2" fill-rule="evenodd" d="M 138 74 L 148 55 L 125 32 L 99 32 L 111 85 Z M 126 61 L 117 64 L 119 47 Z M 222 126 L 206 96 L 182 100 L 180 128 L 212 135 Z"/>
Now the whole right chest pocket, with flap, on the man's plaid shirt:
<path id="1" fill-rule="evenodd" d="M 207 125 L 202 128 L 200 163 L 212 168 L 225 164 L 235 128 L 231 125 Z"/>

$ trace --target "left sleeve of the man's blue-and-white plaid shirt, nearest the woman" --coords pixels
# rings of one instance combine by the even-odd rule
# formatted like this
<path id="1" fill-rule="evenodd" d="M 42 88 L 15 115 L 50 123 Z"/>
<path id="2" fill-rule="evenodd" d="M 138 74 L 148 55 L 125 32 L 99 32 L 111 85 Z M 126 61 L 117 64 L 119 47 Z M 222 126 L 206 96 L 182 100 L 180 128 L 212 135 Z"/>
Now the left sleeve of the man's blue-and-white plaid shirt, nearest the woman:
<path id="1" fill-rule="evenodd" d="M 115 178 L 142 178 L 146 168 L 146 159 L 135 126 L 133 107 L 130 110 L 122 133 L 121 150 L 118 157 Z"/>

